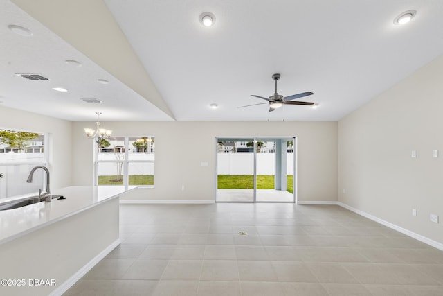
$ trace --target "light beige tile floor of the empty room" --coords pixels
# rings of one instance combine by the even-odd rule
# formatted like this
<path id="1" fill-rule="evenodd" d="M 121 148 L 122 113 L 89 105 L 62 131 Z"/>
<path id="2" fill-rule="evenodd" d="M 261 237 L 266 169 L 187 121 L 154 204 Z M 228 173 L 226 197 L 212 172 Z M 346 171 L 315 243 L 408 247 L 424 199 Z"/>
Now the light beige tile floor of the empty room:
<path id="1" fill-rule="evenodd" d="M 338 206 L 122 204 L 120 238 L 64 295 L 443 295 L 442 251 Z"/>

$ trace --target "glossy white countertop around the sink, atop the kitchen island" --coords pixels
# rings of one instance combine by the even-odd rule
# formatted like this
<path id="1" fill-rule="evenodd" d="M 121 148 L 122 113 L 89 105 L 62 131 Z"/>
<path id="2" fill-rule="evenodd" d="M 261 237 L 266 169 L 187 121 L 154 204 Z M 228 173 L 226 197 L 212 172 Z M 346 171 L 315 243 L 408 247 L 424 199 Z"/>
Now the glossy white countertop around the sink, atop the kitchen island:
<path id="1" fill-rule="evenodd" d="M 125 186 L 70 186 L 51 192 L 53 195 L 64 195 L 66 200 L 54 198 L 52 202 L 38 202 L 0 211 L 0 244 L 95 207 L 105 200 L 117 198 L 134 188 L 136 186 L 127 189 Z"/>

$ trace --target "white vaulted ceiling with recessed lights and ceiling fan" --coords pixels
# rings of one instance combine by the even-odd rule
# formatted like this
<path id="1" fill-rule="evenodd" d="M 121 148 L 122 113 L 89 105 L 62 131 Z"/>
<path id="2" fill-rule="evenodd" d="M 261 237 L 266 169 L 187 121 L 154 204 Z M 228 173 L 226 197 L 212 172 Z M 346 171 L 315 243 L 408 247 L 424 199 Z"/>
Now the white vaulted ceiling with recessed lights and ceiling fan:
<path id="1" fill-rule="evenodd" d="M 440 0 L 0 3 L 0 105 L 72 121 L 96 111 L 104 121 L 337 121 L 443 53 Z M 406 10 L 413 20 L 393 24 Z M 208 28 L 205 11 L 216 17 Z M 280 94 L 311 91 L 299 101 L 319 107 L 237 108 L 264 103 L 251 94 L 271 96 L 273 73 Z"/>

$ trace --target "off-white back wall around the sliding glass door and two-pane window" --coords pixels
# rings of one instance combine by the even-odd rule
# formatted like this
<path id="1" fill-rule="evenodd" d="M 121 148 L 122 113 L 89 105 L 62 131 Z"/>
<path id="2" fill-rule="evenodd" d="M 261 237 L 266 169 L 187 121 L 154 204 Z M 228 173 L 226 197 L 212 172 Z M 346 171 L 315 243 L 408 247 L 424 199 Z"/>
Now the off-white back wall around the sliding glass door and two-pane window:
<path id="1" fill-rule="evenodd" d="M 93 141 L 73 123 L 73 183 L 93 184 Z M 336 122 L 102 122 L 116 136 L 155 136 L 155 189 L 135 200 L 214 200 L 215 137 L 298 137 L 298 200 L 337 200 Z M 208 162 L 208 166 L 201 166 Z M 181 190 L 181 186 L 185 190 Z"/>

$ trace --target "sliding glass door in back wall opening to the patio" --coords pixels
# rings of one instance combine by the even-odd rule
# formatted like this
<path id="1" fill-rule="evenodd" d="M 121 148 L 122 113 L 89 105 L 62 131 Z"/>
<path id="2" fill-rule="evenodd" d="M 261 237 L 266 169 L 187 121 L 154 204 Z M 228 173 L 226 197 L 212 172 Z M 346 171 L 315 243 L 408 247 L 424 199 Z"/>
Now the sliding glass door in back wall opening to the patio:
<path id="1" fill-rule="evenodd" d="M 294 202 L 295 137 L 216 138 L 217 202 Z"/>

